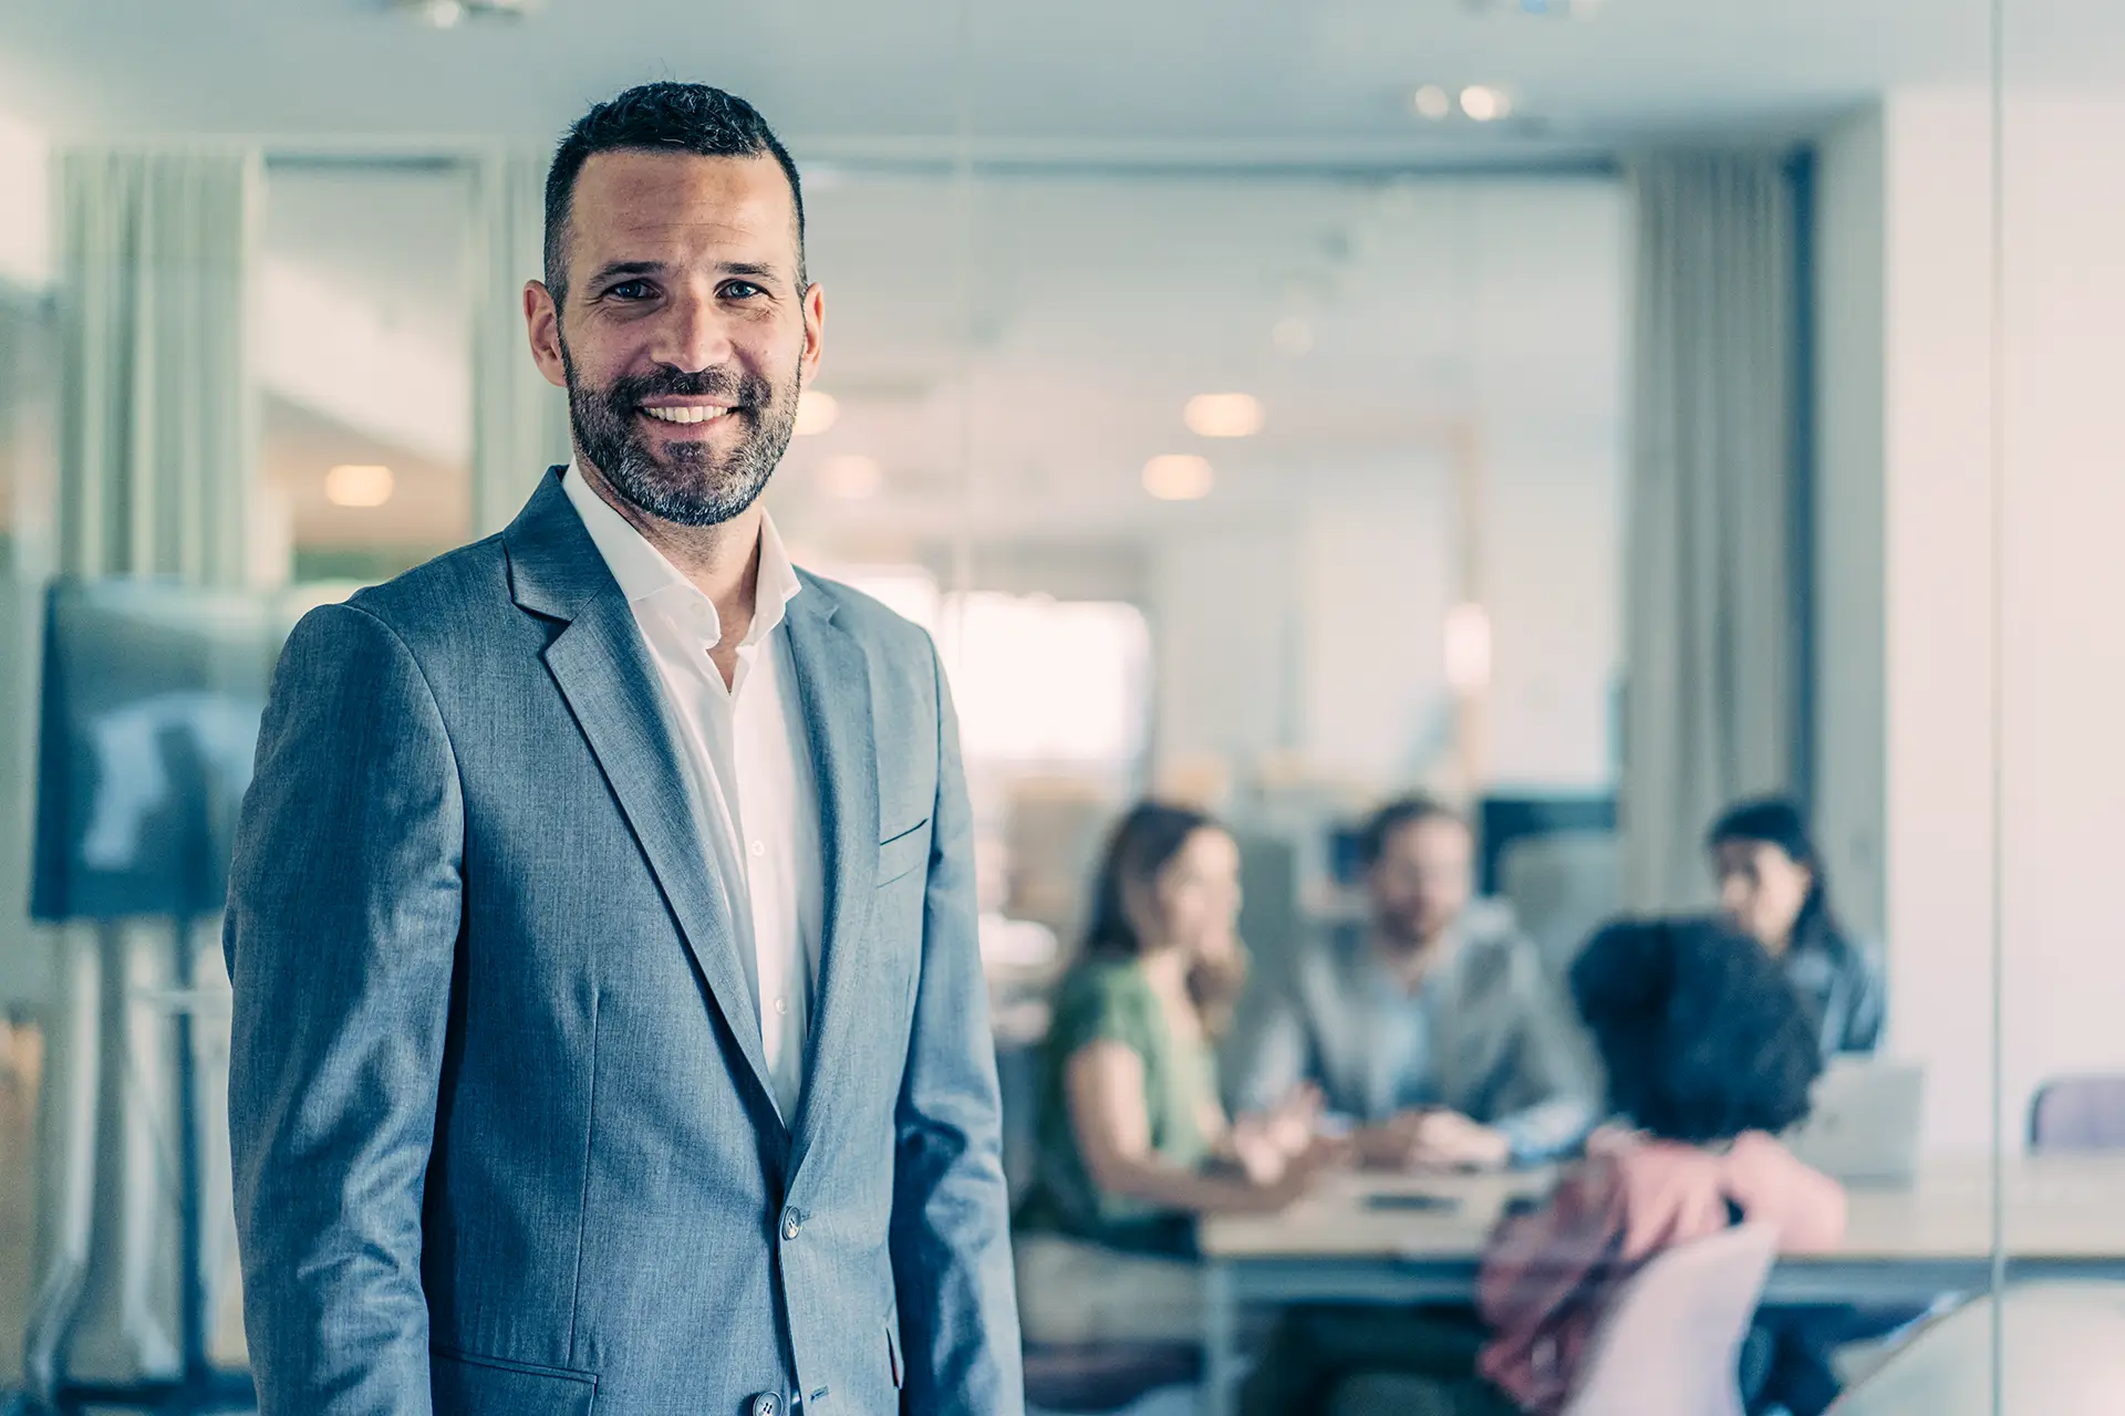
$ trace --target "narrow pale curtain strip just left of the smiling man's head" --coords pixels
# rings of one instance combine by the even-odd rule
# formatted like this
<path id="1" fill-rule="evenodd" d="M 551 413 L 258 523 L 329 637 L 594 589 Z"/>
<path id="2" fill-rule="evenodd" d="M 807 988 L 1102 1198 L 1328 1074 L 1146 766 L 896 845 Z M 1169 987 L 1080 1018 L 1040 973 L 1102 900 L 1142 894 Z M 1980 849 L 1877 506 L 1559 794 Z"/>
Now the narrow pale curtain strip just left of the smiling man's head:
<path id="1" fill-rule="evenodd" d="M 525 280 L 544 274 L 546 159 L 491 155 L 474 174 L 480 231 L 472 340 L 472 533 L 510 524 L 570 456 L 567 397 L 531 363 Z"/>

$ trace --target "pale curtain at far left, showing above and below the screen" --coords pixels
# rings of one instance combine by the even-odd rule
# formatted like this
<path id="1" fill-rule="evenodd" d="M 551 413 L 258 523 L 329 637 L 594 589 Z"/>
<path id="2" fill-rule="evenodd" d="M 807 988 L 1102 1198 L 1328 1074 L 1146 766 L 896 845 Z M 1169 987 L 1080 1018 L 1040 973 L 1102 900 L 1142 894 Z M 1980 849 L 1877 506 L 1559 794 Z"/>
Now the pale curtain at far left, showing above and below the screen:
<path id="1" fill-rule="evenodd" d="M 261 200 L 253 151 L 81 149 L 60 208 L 57 560 L 74 575 L 251 580 L 257 416 L 246 284 Z M 221 1289 L 227 1199 L 227 979 L 217 930 L 185 945 L 221 1006 L 196 1021 L 206 1282 Z M 36 1391 L 178 1363 L 170 926 L 51 930 L 40 1115 Z"/>

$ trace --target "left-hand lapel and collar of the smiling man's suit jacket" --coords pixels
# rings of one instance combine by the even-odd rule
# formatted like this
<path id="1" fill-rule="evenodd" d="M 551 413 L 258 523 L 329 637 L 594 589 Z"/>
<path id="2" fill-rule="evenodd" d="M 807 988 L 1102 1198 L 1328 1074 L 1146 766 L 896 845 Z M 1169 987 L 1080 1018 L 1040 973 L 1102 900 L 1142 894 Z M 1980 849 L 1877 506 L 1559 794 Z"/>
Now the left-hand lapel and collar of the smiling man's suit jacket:
<path id="1" fill-rule="evenodd" d="M 686 775 L 665 726 L 657 671 L 633 609 L 557 476 L 548 473 L 504 541 L 516 603 L 531 614 L 567 620 L 567 628 L 546 645 L 546 669 L 642 845 L 710 1000 L 774 1110 L 759 1006 L 737 957 L 729 904 L 708 866 Z"/>

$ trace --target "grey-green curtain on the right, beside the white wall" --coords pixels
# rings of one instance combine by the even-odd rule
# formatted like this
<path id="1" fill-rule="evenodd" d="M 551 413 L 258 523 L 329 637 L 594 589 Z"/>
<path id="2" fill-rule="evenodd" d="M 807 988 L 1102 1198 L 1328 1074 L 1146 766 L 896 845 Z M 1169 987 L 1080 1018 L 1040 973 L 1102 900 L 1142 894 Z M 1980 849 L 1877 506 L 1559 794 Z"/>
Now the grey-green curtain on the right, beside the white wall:
<path id="1" fill-rule="evenodd" d="M 1764 153 L 1626 163 L 1636 219 L 1624 875 L 1708 898 L 1702 834 L 1794 779 L 1794 191 Z"/>

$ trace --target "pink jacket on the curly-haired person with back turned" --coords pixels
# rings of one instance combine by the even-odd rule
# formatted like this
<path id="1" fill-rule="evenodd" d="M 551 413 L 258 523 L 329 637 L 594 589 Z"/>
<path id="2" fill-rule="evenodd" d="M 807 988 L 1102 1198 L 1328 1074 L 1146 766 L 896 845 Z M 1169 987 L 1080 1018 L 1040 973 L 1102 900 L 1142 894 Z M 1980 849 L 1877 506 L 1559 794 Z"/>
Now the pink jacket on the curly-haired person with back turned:
<path id="1" fill-rule="evenodd" d="M 1492 1329 L 1483 1376 L 1526 1412 L 1562 1410 L 1617 1284 L 1660 1250 L 1726 1229 L 1728 1202 L 1776 1225 L 1781 1253 L 1823 1253 L 1844 1238 L 1844 1189 L 1762 1132 L 1723 1155 L 1598 1132 L 1549 1204 L 1490 1240 L 1477 1280 Z"/>

